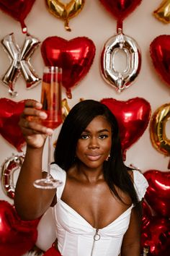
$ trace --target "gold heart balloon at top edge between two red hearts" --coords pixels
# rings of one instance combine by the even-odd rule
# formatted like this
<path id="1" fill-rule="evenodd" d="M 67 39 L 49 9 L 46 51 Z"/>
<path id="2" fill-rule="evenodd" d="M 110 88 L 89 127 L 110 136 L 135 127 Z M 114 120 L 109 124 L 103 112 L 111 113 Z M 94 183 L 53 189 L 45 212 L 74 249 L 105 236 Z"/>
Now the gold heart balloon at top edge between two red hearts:
<path id="1" fill-rule="evenodd" d="M 48 11 L 52 13 L 55 17 L 60 18 L 65 22 L 65 28 L 71 31 L 68 22 L 71 18 L 75 17 L 81 9 L 84 7 L 85 0 L 71 0 L 67 4 L 63 4 L 59 0 L 45 0 Z"/>

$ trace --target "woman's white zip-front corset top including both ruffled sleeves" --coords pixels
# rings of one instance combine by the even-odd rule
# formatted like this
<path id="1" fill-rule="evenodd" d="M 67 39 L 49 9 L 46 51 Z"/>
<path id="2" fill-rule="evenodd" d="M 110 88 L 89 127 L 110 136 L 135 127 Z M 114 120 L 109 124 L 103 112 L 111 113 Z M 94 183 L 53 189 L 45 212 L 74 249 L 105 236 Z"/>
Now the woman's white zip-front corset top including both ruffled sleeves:
<path id="1" fill-rule="evenodd" d="M 122 238 L 130 222 L 133 205 L 103 229 L 94 229 L 76 210 L 61 200 L 66 183 L 66 171 L 53 164 L 51 175 L 63 182 L 57 189 L 57 204 L 53 207 L 58 249 L 63 256 L 118 256 Z M 139 171 L 133 171 L 134 186 L 141 200 L 148 182 Z"/>

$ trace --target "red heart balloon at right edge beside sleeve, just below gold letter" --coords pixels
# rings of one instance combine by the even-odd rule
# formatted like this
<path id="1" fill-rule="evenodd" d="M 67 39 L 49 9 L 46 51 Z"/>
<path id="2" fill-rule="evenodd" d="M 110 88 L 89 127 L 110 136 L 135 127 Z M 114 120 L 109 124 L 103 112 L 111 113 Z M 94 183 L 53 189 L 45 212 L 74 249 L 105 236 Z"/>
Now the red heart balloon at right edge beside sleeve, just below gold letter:
<path id="1" fill-rule="evenodd" d="M 144 176 L 149 184 L 146 201 L 158 216 L 170 218 L 170 171 L 149 170 Z"/>

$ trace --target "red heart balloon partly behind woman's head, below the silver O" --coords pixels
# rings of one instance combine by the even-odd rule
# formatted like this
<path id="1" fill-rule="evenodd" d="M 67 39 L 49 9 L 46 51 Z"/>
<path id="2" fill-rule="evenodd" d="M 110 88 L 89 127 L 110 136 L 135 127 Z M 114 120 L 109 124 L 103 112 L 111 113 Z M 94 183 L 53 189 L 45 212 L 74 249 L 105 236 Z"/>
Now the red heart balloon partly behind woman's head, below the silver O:
<path id="1" fill-rule="evenodd" d="M 104 98 L 101 103 L 104 103 L 117 118 L 125 160 L 125 151 L 143 135 L 148 126 L 151 106 L 144 98 L 138 97 L 128 101 Z"/>

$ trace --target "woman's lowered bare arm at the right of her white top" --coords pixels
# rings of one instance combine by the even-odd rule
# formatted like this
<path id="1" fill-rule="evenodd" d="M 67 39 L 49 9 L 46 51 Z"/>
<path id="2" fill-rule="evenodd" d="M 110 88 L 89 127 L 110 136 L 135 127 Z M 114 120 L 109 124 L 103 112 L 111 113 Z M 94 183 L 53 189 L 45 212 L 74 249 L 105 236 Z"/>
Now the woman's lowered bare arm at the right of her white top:
<path id="1" fill-rule="evenodd" d="M 140 256 L 142 212 L 139 206 L 135 206 L 131 211 L 129 227 L 122 240 L 121 256 Z"/>

